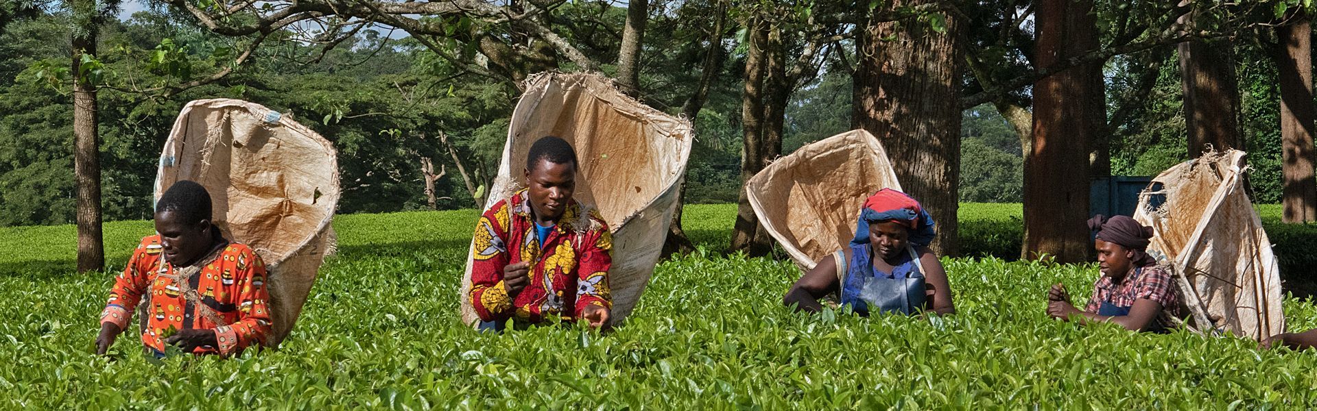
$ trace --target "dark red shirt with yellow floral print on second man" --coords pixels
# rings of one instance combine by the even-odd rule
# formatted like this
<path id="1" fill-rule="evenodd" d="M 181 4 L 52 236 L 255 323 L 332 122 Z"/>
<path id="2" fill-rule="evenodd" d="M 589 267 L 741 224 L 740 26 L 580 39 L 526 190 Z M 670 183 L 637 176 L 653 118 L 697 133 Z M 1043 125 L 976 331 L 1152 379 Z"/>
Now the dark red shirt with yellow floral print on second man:
<path id="1" fill-rule="evenodd" d="M 481 320 L 512 317 L 520 323 L 540 323 L 553 315 L 574 320 L 586 306 L 612 307 L 608 294 L 612 234 L 597 211 L 582 215 L 581 206 L 572 200 L 544 238 L 543 249 L 536 236 L 525 190 L 495 203 L 481 216 L 471 250 L 469 295 Z M 508 298 L 503 267 L 522 261 L 531 262 L 529 283 L 515 298 Z"/>

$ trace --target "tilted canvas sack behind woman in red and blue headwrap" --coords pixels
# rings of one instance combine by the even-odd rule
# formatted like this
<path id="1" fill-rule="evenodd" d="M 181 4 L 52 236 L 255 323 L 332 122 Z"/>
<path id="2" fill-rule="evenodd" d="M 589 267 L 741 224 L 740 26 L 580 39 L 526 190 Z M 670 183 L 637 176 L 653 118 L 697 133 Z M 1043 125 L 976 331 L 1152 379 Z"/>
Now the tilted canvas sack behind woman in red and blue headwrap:
<path id="1" fill-rule="evenodd" d="M 901 190 L 886 150 L 864 129 L 805 145 L 745 184 L 759 223 L 802 270 L 846 248 L 864 199 Z"/>

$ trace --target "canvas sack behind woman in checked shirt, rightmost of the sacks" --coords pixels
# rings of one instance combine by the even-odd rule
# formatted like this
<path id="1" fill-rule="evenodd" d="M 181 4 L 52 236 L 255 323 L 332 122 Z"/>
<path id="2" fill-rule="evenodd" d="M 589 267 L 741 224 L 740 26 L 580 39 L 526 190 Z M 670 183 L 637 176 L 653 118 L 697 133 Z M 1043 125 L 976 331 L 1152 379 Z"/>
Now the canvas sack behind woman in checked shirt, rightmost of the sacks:
<path id="1" fill-rule="evenodd" d="M 1249 202 L 1239 150 L 1166 170 L 1139 195 L 1134 219 L 1155 231 L 1148 254 L 1175 270 L 1189 325 L 1260 340 L 1281 333 L 1280 269 Z"/>

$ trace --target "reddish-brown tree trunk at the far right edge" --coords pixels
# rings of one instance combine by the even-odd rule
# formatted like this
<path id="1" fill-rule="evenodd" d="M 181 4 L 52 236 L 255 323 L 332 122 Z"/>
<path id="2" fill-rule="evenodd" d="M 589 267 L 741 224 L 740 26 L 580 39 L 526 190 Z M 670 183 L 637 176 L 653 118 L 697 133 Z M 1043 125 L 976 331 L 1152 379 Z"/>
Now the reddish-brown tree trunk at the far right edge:
<path id="1" fill-rule="evenodd" d="M 1280 74 L 1280 141 L 1284 169 L 1284 223 L 1317 220 L 1317 180 L 1313 179 L 1312 26 L 1306 16 L 1276 28 L 1276 68 Z"/>

